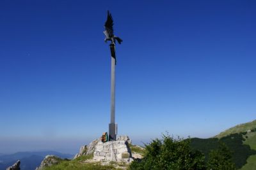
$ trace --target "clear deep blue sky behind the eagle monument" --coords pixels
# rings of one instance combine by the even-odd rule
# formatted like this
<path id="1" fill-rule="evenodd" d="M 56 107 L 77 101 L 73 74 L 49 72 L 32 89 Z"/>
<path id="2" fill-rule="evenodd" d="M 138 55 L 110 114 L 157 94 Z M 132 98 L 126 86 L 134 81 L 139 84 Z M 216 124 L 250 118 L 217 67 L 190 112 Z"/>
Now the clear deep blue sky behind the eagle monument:
<path id="1" fill-rule="evenodd" d="M 0 1 L 0 153 L 75 153 L 108 131 L 209 138 L 256 119 L 255 1 Z"/>

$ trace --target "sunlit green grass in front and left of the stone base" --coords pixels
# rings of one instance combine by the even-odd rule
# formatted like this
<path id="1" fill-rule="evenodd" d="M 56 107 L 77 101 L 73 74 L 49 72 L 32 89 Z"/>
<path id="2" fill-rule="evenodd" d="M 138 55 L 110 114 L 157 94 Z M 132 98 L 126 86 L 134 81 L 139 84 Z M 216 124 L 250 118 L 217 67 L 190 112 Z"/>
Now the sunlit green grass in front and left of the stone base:
<path id="1" fill-rule="evenodd" d="M 116 169 L 113 165 L 102 166 L 99 162 L 83 163 L 84 160 L 92 159 L 93 155 L 84 155 L 74 160 L 61 160 L 59 164 L 45 167 L 44 170 L 107 170 Z"/>

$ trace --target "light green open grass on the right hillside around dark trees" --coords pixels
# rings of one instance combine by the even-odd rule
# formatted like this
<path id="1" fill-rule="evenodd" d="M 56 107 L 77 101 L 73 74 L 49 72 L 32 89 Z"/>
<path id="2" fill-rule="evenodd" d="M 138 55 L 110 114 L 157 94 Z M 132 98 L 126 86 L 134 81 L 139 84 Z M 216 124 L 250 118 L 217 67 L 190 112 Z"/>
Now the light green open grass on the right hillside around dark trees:
<path id="1" fill-rule="evenodd" d="M 234 134 L 239 132 L 246 132 L 250 129 L 256 128 L 256 120 L 253 120 L 252 122 L 248 122 L 245 124 L 236 125 L 235 127 L 232 127 L 230 129 L 227 129 L 224 132 L 221 132 L 216 138 L 221 138 L 223 136 L 227 136 L 228 134 Z M 245 145 L 249 145 L 253 150 L 256 150 L 256 132 L 248 132 L 244 137 L 246 137 L 246 141 L 244 141 Z M 256 155 L 252 155 L 247 159 L 247 164 L 245 164 L 241 170 L 251 170 L 256 169 Z"/>

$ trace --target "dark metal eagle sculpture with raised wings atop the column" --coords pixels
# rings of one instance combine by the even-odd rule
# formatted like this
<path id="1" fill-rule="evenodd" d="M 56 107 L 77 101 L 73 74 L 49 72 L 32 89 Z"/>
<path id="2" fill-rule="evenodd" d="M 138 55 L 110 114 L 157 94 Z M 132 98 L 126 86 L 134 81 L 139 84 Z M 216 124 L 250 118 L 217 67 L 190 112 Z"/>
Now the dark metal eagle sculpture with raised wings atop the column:
<path id="1" fill-rule="evenodd" d="M 105 22 L 105 31 L 103 31 L 106 36 L 104 41 L 105 42 L 111 41 L 111 44 L 114 44 L 114 45 L 115 45 L 115 42 L 117 41 L 119 44 L 121 44 L 123 40 L 117 36 L 114 36 L 113 25 L 114 23 L 113 23 L 112 15 L 108 11 L 108 18 Z"/>

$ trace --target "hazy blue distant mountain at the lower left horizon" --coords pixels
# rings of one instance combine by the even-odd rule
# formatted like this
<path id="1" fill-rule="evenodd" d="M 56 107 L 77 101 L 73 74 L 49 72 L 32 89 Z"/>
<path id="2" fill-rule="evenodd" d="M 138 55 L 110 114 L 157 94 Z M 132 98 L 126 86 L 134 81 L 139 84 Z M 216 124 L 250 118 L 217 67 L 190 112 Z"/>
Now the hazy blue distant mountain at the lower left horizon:
<path id="1" fill-rule="evenodd" d="M 46 155 L 56 155 L 62 159 L 71 159 L 74 157 L 74 155 L 71 154 L 54 151 L 17 152 L 8 155 L 0 155 L 0 169 L 6 169 L 7 167 L 12 166 L 12 164 L 14 164 L 17 160 L 20 160 L 21 170 L 35 170 L 37 166 L 40 166 L 40 163 Z"/>

